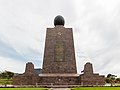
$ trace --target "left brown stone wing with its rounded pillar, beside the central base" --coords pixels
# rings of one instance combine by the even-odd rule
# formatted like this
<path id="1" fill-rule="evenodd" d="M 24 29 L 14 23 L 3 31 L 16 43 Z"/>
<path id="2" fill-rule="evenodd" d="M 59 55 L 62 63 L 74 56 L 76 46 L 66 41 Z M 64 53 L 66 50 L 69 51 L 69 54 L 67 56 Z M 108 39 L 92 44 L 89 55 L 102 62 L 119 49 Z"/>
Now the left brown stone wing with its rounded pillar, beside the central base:
<path id="1" fill-rule="evenodd" d="M 25 72 L 13 77 L 14 85 L 35 85 L 39 81 L 39 76 L 34 72 L 34 65 L 26 63 Z"/>

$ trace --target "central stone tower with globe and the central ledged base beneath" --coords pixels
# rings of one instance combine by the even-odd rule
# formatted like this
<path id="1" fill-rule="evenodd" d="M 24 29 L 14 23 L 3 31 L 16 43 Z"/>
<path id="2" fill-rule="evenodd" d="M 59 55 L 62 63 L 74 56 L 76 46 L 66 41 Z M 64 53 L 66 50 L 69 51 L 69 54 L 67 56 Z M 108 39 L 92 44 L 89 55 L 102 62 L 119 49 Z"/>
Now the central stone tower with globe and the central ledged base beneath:
<path id="1" fill-rule="evenodd" d="M 64 27 L 64 18 L 54 19 L 54 28 L 47 28 L 43 69 L 39 83 L 76 85 L 79 83 L 72 28 Z"/>

